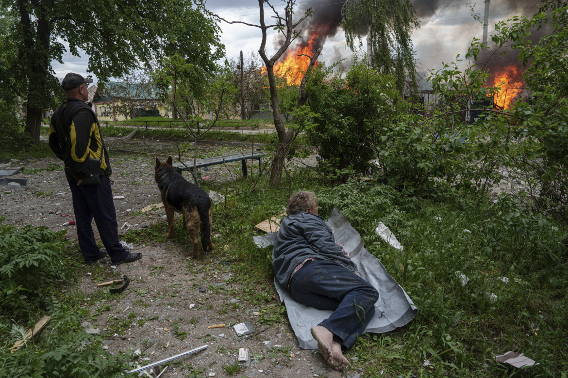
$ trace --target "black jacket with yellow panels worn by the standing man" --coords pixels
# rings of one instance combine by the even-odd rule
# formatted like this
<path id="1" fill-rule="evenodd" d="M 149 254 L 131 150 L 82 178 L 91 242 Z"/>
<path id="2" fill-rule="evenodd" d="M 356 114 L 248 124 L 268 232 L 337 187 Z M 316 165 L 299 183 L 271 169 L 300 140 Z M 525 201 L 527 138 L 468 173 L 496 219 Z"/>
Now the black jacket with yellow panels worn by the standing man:
<path id="1" fill-rule="evenodd" d="M 65 99 L 53 113 L 49 124 L 49 147 L 63 160 L 69 181 L 91 175 L 87 159 L 101 159 L 101 175 L 112 173 L 99 121 L 89 105 L 80 99 Z"/>

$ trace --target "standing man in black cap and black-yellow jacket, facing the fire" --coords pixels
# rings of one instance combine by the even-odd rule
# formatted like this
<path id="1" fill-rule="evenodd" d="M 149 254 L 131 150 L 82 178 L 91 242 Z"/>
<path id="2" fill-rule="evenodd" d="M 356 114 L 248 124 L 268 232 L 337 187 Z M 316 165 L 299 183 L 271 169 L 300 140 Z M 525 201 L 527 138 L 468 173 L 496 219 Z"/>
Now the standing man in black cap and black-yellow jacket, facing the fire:
<path id="1" fill-rule="evenodd" d="M 97 116 L 86 104 L 87 87 L 93 79 L 79 74 L 65 75 L 62 87 L 67 98 L 51 117 L 49 123 L 49 147 L 65 164 L 65 177 L 73 196 L 73 210 L 77 220 L 77 239 L 85 264 L 93 264 L 110 255 L 112 264 L 133 262 L 141 253 L 128 252 L 118 240 L 116 210 L 112 201 L 110 179 L 112 171 L 108 152 L 101 136 Z M 100 182 L 82 184 L 93 177 L 87 168 L 88 159 L 101 159 Z M 99 249 L 91 222 L 95 219 L 105 249 Z"/>

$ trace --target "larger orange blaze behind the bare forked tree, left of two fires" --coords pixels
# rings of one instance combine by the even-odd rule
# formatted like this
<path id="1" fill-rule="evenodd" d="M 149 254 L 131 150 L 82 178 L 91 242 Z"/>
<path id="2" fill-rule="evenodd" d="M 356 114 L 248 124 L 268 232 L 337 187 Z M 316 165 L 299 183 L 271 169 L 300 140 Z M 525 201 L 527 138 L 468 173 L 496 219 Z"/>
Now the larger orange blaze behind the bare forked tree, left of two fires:
<path id="1" fill-rule="evenodd" d="M 286 78 L 286 83 L 289 86 L 299 86 L 302 82 L 304 74 L 310 66 L 310 59 L 315 53 L 315 46 L 318 44 L 318 39 L 327 35 L 327 28 L 319 28 L 319 30 L 312 31 L 310 39 L 306 43 L 300 44 L 293 52 L 287 54 L 283 61 L 279 61 L 274 65 L 274 75 Z M 316 61 L 316 66 L 318 62 Z M 262 67 L 262 72 L 266 72 L 266 67 Z"/>

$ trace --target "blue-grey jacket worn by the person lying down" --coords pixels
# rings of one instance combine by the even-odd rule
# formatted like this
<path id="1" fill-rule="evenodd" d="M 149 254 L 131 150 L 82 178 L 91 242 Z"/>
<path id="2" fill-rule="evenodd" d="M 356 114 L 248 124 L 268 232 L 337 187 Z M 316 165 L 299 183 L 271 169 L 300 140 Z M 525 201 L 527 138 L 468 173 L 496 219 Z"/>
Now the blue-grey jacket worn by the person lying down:
<path id="1" fill-rule="evenodd" d="M 290 277 L 306 258 L 327 260 L 357 272 L 357 266 L 335 243 L 331 228 L 318 215 L 299 211 L 288 215 L 280 225 L 272 250 L 272 267 L 276 281 L 288 287 Z"/>

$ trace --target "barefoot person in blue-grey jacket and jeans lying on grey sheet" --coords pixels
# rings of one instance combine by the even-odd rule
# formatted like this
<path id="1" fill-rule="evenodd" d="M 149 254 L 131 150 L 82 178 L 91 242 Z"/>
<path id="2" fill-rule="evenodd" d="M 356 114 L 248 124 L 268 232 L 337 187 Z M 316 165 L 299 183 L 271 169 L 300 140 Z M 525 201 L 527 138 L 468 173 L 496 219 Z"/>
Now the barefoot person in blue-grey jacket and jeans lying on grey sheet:
<path id="1" fill-rule="evenodd" d="M 276 281 L 299 303 L 334 311 L 311 333 L 325 362 L 343 370 L 349 360 L 342 349 L 352 347 L 365 331 L 379 293 L 359 277 L 357 266 L 335 242 L 331 228 L 318 215 L 314 193 L 295 193 L 286 213 L 272 252 Z"/>

